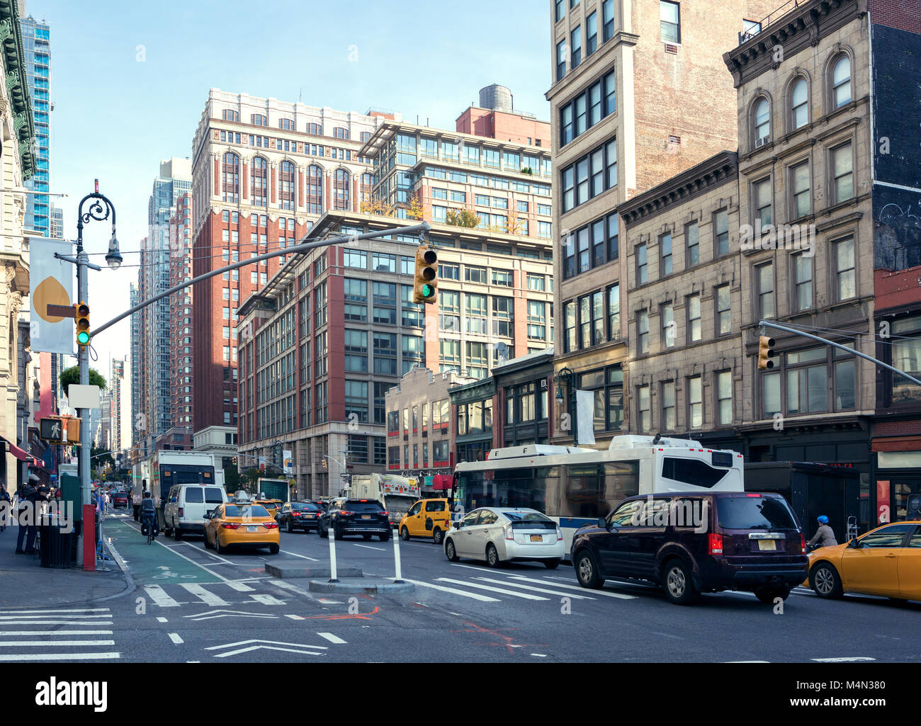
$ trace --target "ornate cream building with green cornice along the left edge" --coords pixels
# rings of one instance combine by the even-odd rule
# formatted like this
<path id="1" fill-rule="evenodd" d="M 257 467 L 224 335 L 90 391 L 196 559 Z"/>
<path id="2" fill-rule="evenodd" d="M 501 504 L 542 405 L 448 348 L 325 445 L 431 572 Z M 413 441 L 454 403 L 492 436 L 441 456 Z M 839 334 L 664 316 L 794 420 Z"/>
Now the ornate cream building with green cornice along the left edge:
<path id="1" fill-rule="evenodd" d="M 26 361 L 19 312 L 29 297 L 29 242 L 24 236 L 29 195 L 23 183 L 37 170 L 29 69 L 24 65 L 16 3 L 0 3 L 0 34 L 0 71 L 5 79 L 0 84 L 0 438 L 6 442 L 6 453 L 0 452 L 0 479 L 12 491 L 27 479 L 28 464 L 33 462 L 26 451 L 29 441 L 21 438 L 28 424 L 24 429 L 22 416 L 27 408 L 19 404 L 20 389 L 27 384 L 22 376 Z"/>

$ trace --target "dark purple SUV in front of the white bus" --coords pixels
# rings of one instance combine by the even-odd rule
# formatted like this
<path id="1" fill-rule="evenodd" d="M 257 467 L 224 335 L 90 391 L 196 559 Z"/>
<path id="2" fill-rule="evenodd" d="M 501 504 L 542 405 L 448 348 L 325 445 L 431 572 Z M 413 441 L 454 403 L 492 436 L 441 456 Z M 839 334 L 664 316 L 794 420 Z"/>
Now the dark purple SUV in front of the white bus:
<path id="1" fill-rule="evenodd" d="M 715 492 L 626 498 L 577 531 L 571 554 L 586 588 L 609 578 L 647 580 L 676 604 L 722 590 L 773 603 L 806 579 L 804 550 L 796 515 L 780 495 Z"/>

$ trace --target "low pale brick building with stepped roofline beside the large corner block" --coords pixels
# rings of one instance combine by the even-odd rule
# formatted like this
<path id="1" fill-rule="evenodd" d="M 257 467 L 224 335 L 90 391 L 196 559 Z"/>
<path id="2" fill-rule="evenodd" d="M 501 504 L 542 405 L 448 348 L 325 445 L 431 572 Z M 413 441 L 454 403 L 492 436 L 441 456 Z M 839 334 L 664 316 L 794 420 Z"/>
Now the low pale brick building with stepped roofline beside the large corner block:
<path id="1" fill-rule="evenodd" d="M 458 461 L 449 391 L 471 381 L 454 371 L 414 366 L 384 395 L 388 472 L 416 479 L 426 492 L 449 488 L 436 486 L 441 477 L 451 478 Z"/>

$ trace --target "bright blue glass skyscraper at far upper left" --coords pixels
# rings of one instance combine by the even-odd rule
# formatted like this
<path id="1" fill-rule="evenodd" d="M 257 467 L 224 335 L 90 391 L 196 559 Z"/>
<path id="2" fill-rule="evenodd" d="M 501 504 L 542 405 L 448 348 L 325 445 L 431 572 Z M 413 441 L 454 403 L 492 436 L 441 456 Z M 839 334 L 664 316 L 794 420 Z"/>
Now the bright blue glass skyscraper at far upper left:
<path id="1" fill-rule="evenodd" d="M 20 3 L 20 13 L 25 11 Z M 51 29 L 43 20 L 29 16 L 20 18 L 25 71 L 35 116 L 35 175 L 25 182 L 26 189 L 39 192 L 26 195 L 25 228 L 42 237 L 51 237 L 51 205 L 48 199 L 48 122 L 51 113 L 49 99 L 49 68 L 51 65 Z M 44 192 L 44 193 L 41 193 Z"/>

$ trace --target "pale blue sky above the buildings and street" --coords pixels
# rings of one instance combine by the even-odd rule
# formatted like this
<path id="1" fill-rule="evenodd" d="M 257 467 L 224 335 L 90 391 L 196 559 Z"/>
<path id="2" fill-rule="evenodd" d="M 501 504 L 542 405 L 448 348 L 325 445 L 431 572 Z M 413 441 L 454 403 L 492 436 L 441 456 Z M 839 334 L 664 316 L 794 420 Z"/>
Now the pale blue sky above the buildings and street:
<path id="1" fill-rule="evenodd" d="M 461 9 L 420 0 L 28 0 L 29 14 L 51 26 L 51 188 L 68 195 L 56 200 L 64 236 L 76 237 L 76 205 L 98 177 L 123 252 L 146 236 L 160 159 L 191 156 L 209 88 L 344 111 L 377 106 L 453 128 L 480 88 L 500 83 L 517 110 L 549 120 L 543 0 L 468 0 Z M 88 225 L 87 250 L 104 252 L 108 234 L 106 224 Z M 137 269 L 127 265 L 137 255 L 124 257 L 118 273 L 90 272 L 94 327 L 128 308 Z M 127 322 L 94 345 L 104 370 L 110 354 L 130 352 Z"/>

